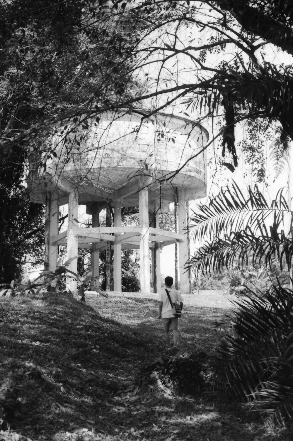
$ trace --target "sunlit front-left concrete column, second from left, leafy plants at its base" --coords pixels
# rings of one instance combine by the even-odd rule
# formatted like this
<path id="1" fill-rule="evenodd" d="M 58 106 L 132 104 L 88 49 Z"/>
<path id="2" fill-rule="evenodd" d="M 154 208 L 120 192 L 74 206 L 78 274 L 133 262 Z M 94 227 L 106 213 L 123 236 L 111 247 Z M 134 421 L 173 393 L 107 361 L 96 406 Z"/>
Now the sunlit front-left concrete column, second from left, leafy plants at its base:
<path id="1" fill-rule="evenodd" d="M 73 190 L 68 195 L 67 260 L 71 260 L 68 269 L 77 275 L 77 228 L 78 228 L 78 192 Z M 70 273 L 71 274 L 71 273 Z M 73 276 L 73 274 L 71 274 Z M 77 281 L 66 277 L 66 288 L 74 292 Z"/>

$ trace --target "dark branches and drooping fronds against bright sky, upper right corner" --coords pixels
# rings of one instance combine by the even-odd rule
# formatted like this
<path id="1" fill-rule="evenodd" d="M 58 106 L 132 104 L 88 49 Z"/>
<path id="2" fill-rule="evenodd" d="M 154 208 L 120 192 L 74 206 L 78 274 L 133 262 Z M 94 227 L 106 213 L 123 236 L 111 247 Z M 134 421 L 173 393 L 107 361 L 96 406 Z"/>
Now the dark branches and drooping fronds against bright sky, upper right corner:
<path id="1" fill-rule="evenodd" d="M 243 121 L 278 121 L 282 130 L 276 136 L 286 146 L 293 135 L 292 59 L 282 63 L 276 54 L 292 54 L 289 2 L 163 1 L 141 8 L 156 9 L 159 17 L 155 26 L 160 31 L 143 59 L 144 65 L 154 62 L 150 58 L 156 54 L 159 76 L 170 81 L 162 81 L 157 93 L 184 97 L 200 121 L 220 117 L 214 138 L 222 138 L 231 169 L 238 164 L 235 128 Z"/>

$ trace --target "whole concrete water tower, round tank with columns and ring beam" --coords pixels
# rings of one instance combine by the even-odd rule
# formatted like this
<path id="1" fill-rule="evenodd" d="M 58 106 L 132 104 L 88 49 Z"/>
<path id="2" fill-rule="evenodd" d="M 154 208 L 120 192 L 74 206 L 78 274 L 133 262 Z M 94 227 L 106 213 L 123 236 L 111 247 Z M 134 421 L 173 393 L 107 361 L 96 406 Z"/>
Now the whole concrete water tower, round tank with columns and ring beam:
<path id="1" fill-rule="evenodd" d="M 70 270 L 77 273 L 78 248 L 92 250 L 93 277 L 99 275 L 99 251 L 114 250 L 114 291 L 121 291 L 121 250 L 139 249 L 142 292 L 150 292 L 150 250 L 157 291 L 161 288 L 160 249 L 178 243 L 181 292 L 189 292 L 186 202 L 206 194 L 208 139 L 201 125 L 159 112 L 104 112 L 87 123 L 60 127 L 49 144 L 54 155 L 40 166 L 30 161 L 28 187 L 33 202 L 46 204 L 45 267 L 54 271 L 59 246 L 67 247 Z M 64 124 L 65 126 L 65 124 Z M 43 160 L 44 162 L 44 160 Z M 159 228 L 159 214 L 168 212 L 178 194 L 178 232 Z M 68 203 L 68 228 L 59 234 L 59 206 Z M 92 228 L 78 226 L 78 205 L 86 205 Z M 114 226 L 100 227 L 99 213 L 114 209 Z M 121 207 L 139 207 L 139 225 L 121 225 Z M 150 219 L 149 221 L 149 214 Z M 155 256 L 155 257 L 154 257 Z M 156 262 L 156 268 L 154 268 Z M 67 288 L 76 289 L 68 280 Z"/>

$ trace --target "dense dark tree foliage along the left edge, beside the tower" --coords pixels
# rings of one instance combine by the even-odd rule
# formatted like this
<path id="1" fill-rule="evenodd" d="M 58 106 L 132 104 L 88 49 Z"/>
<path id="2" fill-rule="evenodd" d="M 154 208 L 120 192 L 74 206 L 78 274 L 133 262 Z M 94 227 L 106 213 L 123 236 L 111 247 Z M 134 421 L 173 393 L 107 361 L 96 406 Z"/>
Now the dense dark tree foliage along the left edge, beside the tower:
<path id="1" fill-rule="evenodd" d="M 23 263 L 25 252 L 15 245 L 23 239 L 22 230 L 35 243 L 42 230 L 42 207 L 30 204 L 21 186 L 29 156 L 38 153 L 42 163 L 56 155 L 45 142 L 56 121 L 91 107 L 96 112 L 110 97 L 129 93 L 131 57 L 125 61 L 121 49 L 132 44 L 132 31 L 131 24 L 119 22 L 117 7 L 104 1 L 13 0 L 2 5 L 0 275 L 6 280 L 17 276 Z M 33 254 L 39 263 L 39 252 Z"/>

